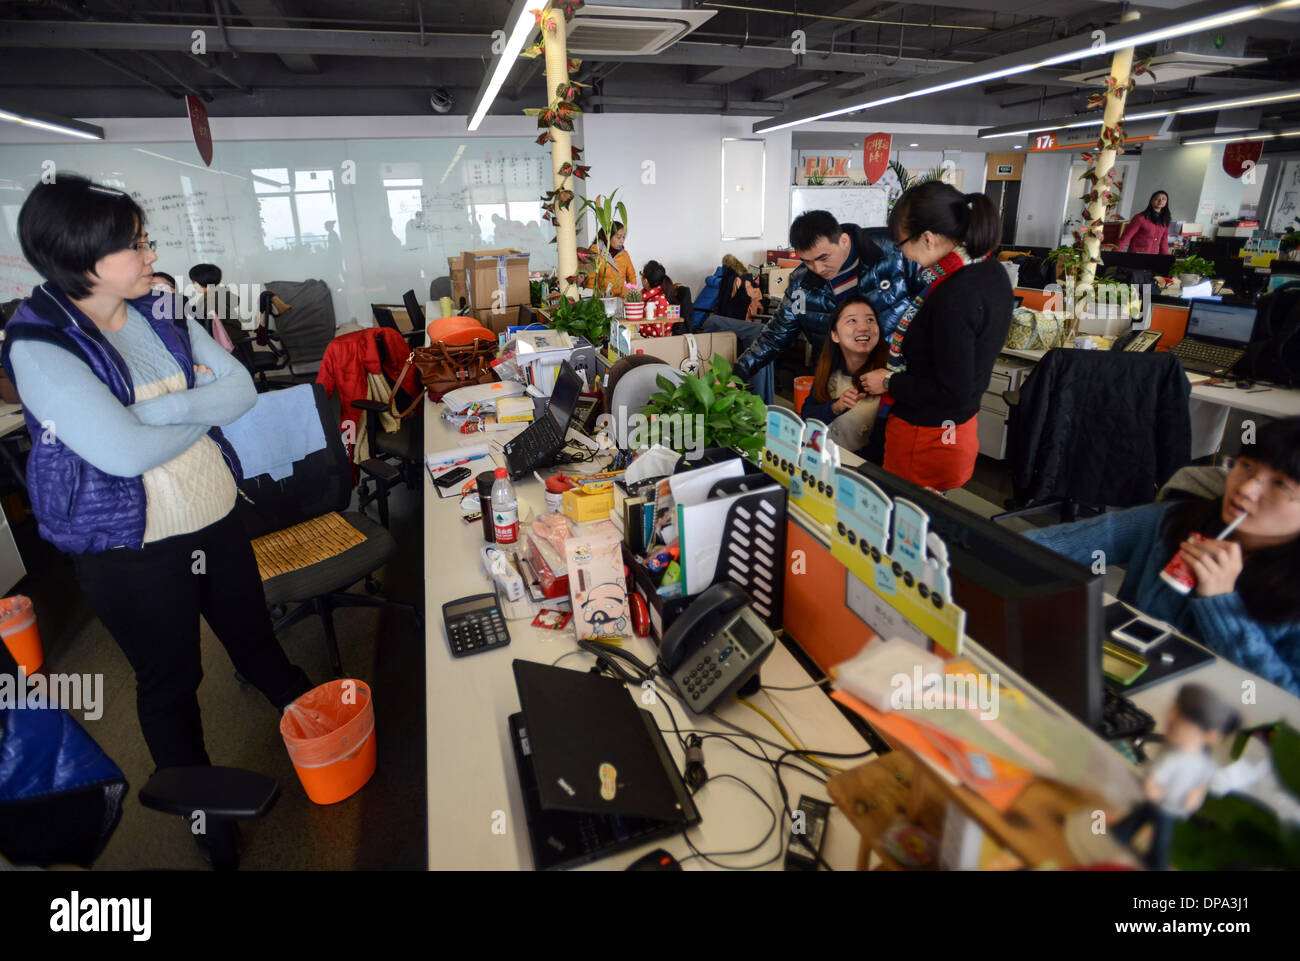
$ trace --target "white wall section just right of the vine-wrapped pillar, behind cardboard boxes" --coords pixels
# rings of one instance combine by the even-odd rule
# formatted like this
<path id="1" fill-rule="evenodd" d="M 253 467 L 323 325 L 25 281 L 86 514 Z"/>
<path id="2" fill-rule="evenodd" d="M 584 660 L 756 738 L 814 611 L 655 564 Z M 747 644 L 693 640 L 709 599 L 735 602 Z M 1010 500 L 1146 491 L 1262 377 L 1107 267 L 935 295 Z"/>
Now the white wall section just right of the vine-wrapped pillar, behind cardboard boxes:
<path id="1" fill-rule="evenodd" d="M 694 295 L 723 254 L 762 264 L 767 248 L 785 246 L 790 133 L 754 134 L 754 121 L 664 113 L 582 117 L 582 160 L 592 165 L 586 195 L 618 189 L 628 208 L 628 252 L 637 270 L 647 260 L 658 260 Z M 722 150 L 723 138 L 731 137 L 767 142 L 760 238 L 722 239 Z"/>

